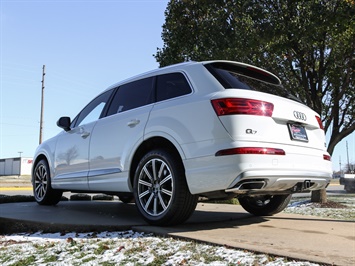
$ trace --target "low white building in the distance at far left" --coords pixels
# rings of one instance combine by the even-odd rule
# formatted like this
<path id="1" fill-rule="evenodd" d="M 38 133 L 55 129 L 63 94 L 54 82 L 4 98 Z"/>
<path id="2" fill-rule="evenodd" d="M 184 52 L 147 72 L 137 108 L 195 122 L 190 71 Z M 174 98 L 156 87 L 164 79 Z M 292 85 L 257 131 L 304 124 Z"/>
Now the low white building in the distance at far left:
<path id="1" fill-rule="evenodd" d="M 32 162 L 30 157 L 0 159 L 0 176 L 31 175 Z"/>

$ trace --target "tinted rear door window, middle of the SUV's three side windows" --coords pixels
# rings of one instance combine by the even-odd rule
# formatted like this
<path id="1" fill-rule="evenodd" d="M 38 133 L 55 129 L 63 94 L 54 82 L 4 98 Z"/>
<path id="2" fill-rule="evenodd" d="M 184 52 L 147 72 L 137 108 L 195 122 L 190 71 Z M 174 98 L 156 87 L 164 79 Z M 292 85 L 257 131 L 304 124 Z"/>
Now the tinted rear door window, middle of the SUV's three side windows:
<path id="1" fill-rule="evenodd" d="M 151 77 L 120 86 L 113 97 L 107 116 L 152 103 L 153 81 Z"/>

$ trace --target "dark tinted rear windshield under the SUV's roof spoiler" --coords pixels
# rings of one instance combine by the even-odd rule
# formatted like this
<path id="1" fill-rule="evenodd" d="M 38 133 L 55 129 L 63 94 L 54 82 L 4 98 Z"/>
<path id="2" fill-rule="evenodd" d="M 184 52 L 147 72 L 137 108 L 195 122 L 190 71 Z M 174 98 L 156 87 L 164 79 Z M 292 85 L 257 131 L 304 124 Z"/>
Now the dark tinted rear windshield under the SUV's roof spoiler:
<path id="1" fill-rule="evenodd" d="M 300 102 L 276 77 L 260 69 L 221 62 L 206 64 L 205 67 L 225 89 L 260 91 Z"/>

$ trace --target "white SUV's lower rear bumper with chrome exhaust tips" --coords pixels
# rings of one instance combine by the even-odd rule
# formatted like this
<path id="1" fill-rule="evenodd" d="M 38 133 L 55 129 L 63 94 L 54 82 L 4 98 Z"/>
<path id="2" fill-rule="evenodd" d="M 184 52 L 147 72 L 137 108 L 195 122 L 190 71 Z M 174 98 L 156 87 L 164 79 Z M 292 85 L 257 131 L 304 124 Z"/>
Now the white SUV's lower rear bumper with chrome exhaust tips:
<path id="1" fill-rule="evenodd" d="M 190 192 L 201 195 L 296 193 L 326 188 L 332 178 L 322 154 L 206 156 L 184 166 Z"/>

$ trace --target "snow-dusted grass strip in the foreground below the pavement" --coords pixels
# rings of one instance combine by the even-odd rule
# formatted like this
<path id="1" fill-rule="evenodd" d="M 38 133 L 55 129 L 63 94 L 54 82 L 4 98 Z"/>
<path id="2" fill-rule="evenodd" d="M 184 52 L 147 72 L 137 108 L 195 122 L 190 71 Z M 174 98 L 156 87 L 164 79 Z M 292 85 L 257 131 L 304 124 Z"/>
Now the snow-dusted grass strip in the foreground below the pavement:
<path id="1" fill-rule="evenodd" d="M 134 231 L 0 236 L 0 264 L 318 265 Z M 19 264 L 18 264 L 19 265 Z"/>

